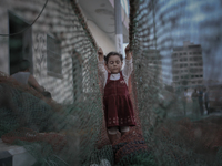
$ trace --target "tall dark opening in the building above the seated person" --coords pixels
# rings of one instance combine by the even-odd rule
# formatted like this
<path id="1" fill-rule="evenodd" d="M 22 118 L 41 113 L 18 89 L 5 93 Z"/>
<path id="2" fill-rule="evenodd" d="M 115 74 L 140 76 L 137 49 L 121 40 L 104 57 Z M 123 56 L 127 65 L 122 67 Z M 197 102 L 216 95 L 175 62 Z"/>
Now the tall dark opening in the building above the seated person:
<path id="1" fill-rule="evenodd" d="M 16 13 L 9 11 L 9 33 L 18 33 L 28 27 L 29 23 Z M 18 33 L 17 35 L 9 37 L 9 64 L 10 74 L 20 71 L 19 64 L 21 60 L 28 60 L 30 63 L 30 73 L 32 73 L 32 29 Z"/>

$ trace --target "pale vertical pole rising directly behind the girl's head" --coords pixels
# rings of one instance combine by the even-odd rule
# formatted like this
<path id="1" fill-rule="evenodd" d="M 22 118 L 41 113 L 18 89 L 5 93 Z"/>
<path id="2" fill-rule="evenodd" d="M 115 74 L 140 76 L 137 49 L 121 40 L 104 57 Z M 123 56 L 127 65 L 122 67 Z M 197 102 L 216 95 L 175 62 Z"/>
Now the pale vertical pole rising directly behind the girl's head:
<path id="1" fill-rule="evenodd" d="M 120 1 L 121 0 L 114 0 L 115 49 L 117 52 L 123 54 L 122 15 Z"/>

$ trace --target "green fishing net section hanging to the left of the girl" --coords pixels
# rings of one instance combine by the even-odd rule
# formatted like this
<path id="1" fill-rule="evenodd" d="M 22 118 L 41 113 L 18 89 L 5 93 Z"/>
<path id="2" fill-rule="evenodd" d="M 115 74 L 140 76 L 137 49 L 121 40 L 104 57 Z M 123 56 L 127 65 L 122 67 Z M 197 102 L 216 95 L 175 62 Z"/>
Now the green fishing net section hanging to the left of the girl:
<path id="1" fill-rule="evenodd" d="M 97 46 L 79 7 L 74 1 L 1 3 L 6 9 L 2 15 L 9 15 L 11 25 L 11 35 L 1 37 L 1 43 L 10 43 L 13 54 L 10 64 L 14 68 L 10 71 L 17 70 L 23 49 L 22 56 L 28 59 L 31 46 L 34 77 L 52 95 L 52 98 L 46 97 L 1 74 L 2 141 L 22 145 L 36 158 L 36 165 L 84 163 L 100 133 L 102 104 Z M 21 18 L 28 20 L 28 24 Z M 16 23 L 18 29 L 13 29 Z M 2 32 L 7 33 L 4 29 L 7 27 L 2 27 Z M 19 46 L 20 39 L 24 48 Z"/>

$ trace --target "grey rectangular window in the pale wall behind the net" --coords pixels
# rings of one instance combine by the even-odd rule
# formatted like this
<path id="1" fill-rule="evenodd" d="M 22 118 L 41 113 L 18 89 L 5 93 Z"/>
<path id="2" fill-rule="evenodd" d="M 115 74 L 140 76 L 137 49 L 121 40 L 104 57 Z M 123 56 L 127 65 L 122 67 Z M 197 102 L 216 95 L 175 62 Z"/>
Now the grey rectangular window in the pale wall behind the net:
<path id="1" fill-rule="evenodd" d="M 47 70 L 48 74 L 62 79 L 61 43 L 47 35 Z"/>

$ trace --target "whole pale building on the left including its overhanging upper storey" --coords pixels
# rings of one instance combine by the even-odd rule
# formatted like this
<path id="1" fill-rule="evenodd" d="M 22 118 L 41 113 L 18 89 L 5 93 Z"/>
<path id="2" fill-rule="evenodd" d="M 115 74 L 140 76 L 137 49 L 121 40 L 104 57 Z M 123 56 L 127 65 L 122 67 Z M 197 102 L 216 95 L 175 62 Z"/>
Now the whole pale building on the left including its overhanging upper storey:
<path id="1" fill-rule="evenodd" d="M 59 103 L 72 103 L 93 91 L 89 61 L 97 63 L 97 55 L 92 52 L 98 46 L 104 53 L 115 50 L 114 0 L 8 0 L 0 11 L 0 33 L 10 34 L 0 35 L 1 72 L 13 74 L 22 59 L 29 60 L 31 73 Z M 123 8 L 122 24 L 128 42 Z"/>

